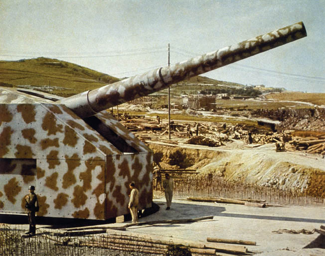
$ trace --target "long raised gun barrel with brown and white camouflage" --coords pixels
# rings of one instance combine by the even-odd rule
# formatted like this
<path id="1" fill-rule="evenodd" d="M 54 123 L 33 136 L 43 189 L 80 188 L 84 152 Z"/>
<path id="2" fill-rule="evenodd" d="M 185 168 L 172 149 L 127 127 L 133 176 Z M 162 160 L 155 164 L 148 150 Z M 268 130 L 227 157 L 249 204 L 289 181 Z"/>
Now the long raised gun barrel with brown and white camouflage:
<path id="1" fill-rule="evenodd" d="M 303 22 L 266 33 L 246 41 L 203 54 L 170 67 L 157 68 L 114 84 L 84 92 L 63 100 L 79 117 L 86 118 L 100 111 L 161 91 L 169 85 L 223 67 L 238 60 L 290 43 L 307 36 Z"/>

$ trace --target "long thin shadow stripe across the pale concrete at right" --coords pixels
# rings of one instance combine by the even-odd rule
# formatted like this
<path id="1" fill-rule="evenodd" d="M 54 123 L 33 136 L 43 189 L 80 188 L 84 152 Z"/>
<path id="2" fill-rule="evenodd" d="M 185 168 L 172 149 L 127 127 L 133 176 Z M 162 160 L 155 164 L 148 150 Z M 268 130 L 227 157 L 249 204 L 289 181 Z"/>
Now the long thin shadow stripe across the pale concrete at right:
<path id="1" fill-rule="evenodd" d="M 230 217 L 230 218 L 273 220 L 273 221 L 296 221 L 296 222 L 309 222 L 309 223 L 325 223 L 325 220 L 320 220 L 320 219 L 307 219 L 307 218 L 294 218 L 294 217 L 281 217 L 281 216 L 262 216 L 262 215 L 237 214 L 237 213 L 219 213 L 215 216 Z"/>

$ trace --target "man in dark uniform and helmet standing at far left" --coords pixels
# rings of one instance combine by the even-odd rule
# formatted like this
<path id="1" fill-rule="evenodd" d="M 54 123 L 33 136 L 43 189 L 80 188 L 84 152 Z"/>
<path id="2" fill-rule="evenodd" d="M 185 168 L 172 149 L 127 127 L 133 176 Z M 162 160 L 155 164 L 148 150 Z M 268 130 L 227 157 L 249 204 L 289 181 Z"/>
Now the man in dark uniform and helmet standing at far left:
<path id="1" fill-rule="evenodd" d="M 38 212 L 39 206 L 38 206 L 38 200 L 37 196 L 34 193 L 35 187 L 29 186 L 28 188 L 29 194 L 25 196 L 26 205 L 28 211 L 28 223 L 29 223 L 29 232 L 25 233 L 27 235 L 35 235 L 36 232 L 36 218 L 35 213 Z"/>

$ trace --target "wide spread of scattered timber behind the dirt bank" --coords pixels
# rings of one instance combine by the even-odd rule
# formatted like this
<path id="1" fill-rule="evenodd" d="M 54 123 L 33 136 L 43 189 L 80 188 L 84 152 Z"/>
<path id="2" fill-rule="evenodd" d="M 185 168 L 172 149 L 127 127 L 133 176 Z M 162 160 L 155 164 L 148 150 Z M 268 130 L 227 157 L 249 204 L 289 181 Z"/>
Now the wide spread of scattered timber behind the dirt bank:
<path id="1" fill-rule="evenodd" d="M 170 132 L 174 139 L 165 139 L 168 134 L 168 123 L 158 123 L 152 118 L 133 117 L 121 121 L 130 131 L 138 132 L 138 137 L 151 142 L 163 142 L 177 145 L 179 139 L 187 138 L 184 143 L 218 147 L 232 140 L 243 140 L 245 144 L 276 143 L 276 151 L 306 150 L 307 153 L 325 155 L 325 135 L 309 137 L 293 136 L 293 130 L 273 132 L 247 124 L 216 123 L 177 123 L 173 121 Z M 197 135 L 196 135 L 197 133 Z M 178 139 L 177 139 L 178 138 Z M 148 141 L 147 141 L 148 142 Z"/>

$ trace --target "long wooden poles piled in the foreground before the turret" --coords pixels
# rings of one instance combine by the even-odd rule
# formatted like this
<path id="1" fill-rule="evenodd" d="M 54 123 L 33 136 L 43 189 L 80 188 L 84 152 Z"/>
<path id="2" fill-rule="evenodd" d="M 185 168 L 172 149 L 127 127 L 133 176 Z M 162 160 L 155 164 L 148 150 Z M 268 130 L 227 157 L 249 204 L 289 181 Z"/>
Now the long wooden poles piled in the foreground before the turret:
<path id="1" fill-rule="evenodd" d="M 248 253 L 245 245 L 256 245 L 251 241 L 242 240 L 218 240 L 210 239 L 207 242 L 189 241 L 177 238 L 170 238 L 158 235 L 144 235 L 141 233 L 132 233 L 126 231 L 127 228 L 132 226 L 143 225 L 157 225 L 157 224 L 182 224 L 192 223 L 202 220 L 211 220 L 213 216 L 185 219 L 185 220 L 164 220 L 164 221 L 151 221 L 140 222 L 135 224 L 126 224 L 122 226 L 124 231 L 118 231 L 110 227 L 83 227 L 83 228 L 70 228 L 64 229 L 65 232 L 56 234 L 56 242 L 60 242 L 59 237 L 67 238 L 71 236 L 85 236 L 85 235 L 100 235 L 100 240 L 91 239 L 87 237 L 86 240 L 79 240 L 78 246 L 85 247 L 100 247 L 104 249 L 119 250 L 125 252 L 138 252 L 143 254 L 157 254 L 164 255 L 170 248 L 178 246 L 180 248 L 187 248 L 192 255 L 251 255 Z M 62 245 L 73 243 L 73 240 L 62 240 Z"/>

